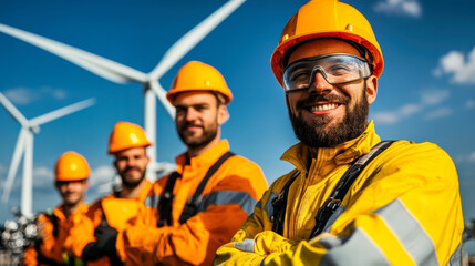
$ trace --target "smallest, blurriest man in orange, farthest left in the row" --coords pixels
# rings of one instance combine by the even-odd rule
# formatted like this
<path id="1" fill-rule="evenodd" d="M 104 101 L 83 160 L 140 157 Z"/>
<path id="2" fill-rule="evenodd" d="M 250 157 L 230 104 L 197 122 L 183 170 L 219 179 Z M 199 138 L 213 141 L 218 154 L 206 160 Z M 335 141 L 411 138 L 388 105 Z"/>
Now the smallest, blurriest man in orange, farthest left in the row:
<path id="1" fill-rule="evenodd" d="M 74 265 L 73 256 L 63 250 L 73 221 L 87 212 L 84 195 L 90 168 L 75 152 L 65 152 L 56 162 L 55 187 L 62 204 L 37 218 L 39 241 L 24 253 L 24 265 Z"/>

